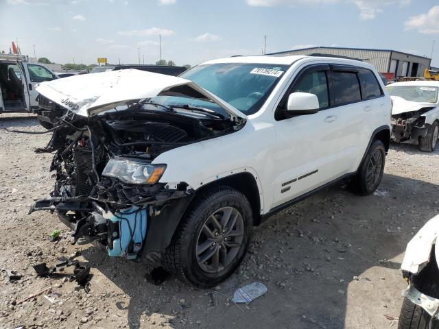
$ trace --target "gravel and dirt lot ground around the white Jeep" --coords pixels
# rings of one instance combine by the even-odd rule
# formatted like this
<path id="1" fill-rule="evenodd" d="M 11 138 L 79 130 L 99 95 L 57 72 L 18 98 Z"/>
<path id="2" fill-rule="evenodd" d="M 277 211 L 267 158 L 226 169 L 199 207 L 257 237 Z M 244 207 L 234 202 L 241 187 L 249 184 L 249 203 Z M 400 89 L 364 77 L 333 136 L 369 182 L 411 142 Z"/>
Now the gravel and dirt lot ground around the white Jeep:
<path id="1" fill-rule="evenodd" d="M 26 114 L 0 114 L 1 127 L 42 130 Z M 274 215 L 255 229 L 239 271 L 213 292 L 172 277 L 157 286 L 145 265 L 70 245 L 56 215 L 27 215 L 53 184 L 51 155 L 34 154 L 48 139 L 0 129 L 0 328 L 396 328 L 384 315 L 399 316 L 405 244 L 439 212 L 439 150 L 392 145 L 375 195 L 335 186 Z M 55 229 L 63 239 L 51 242 Z M 77 250 L 92 267 L 89 293 L 34 273 L 32 265 Z M 23 278 L 10 282 L 5 269 Z M 263 297 L 241 308 L 228 300 L 256 280 L 268 287 Z M 47 287 L 53 304 L 44 294 L 19 304 Z"/>

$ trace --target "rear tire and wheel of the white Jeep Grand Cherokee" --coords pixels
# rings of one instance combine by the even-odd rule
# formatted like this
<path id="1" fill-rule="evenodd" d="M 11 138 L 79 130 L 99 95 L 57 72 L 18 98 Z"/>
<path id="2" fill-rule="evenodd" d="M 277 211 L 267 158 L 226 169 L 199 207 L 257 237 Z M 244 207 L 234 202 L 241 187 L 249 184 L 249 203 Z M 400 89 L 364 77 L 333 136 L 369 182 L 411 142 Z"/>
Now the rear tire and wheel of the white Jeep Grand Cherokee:
<path id="1" fill-rule="evenodd" d="M 348 186 L 358 195 L 370 195 L 374 193 L 381 178 L 383 177 L 385 164 L 385 147 L 379 139 L 372 142 L 368 153 L 361 162 L 355 177 L 349 182 Z"/>

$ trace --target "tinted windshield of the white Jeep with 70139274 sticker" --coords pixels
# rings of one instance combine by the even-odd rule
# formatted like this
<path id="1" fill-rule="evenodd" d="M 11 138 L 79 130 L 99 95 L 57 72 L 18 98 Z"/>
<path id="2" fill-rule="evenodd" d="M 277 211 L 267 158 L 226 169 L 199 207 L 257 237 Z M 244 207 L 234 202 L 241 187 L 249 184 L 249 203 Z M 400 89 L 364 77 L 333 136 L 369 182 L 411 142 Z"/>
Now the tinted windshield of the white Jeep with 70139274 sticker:
<path id="1" fill-rule="evenodd" d="M 276 64 L 206 64 L 195 66 L 180 77 L 209 90 L 244 114 L 253 114 L 261 108 L 288 67 Z"/>

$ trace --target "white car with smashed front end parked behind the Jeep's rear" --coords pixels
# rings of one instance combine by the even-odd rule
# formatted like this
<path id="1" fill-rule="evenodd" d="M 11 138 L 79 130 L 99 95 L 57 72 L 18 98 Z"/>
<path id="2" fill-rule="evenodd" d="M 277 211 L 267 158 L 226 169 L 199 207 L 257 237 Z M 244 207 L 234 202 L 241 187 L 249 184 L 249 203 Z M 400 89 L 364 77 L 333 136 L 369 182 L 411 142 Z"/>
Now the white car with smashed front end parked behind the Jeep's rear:
<path id="1" fill-rule="evenodd" d="M 393 103 L 392 140 L 434 151 L 439 135 L 439 82 L 396 82 L 386 89 Z"/>

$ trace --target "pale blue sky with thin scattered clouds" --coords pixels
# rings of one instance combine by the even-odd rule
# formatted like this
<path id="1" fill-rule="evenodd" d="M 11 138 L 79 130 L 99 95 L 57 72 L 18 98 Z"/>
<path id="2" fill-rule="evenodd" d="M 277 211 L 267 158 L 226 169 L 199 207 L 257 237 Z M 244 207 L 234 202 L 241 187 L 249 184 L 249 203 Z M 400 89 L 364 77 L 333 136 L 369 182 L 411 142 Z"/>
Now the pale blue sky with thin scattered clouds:
<path id="1" fill-rule="evenodd" d="M 198 64 L 308 45 L 394 49 L 439 66 L 439 1 L 432 0 L 0 0 L 0 51 L 91 64 L 162 58 Z"/>

